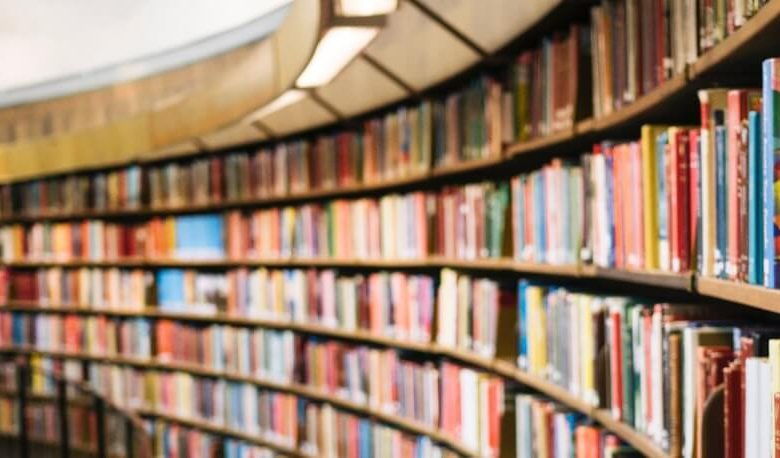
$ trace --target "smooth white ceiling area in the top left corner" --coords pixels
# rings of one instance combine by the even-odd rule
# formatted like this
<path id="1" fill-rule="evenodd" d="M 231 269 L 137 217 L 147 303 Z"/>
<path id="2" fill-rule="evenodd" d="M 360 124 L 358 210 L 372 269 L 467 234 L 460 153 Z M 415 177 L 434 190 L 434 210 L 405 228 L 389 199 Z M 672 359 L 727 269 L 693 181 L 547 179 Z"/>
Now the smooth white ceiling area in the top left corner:
<path id="1" fill-rule="evenodd" d="M 262 26 L 258 21 L 279 13 L 281 7 L 291 2 L 0 0 L 0 95 L 129 61 L 133 61 L 131 67 L 148 67 L 139 60 L 176 52 L 235 29 L 244 29 L 244 41 L 253 33 L 265 35 L 270 31 L 258 31 Z M 278 22 L 270 26 L 278 27 Z M 231 43 L 236 44 L 243 43 L 235 40 Z M 194 48 L 202 53 L 207 46 L 201 42 Z M 198 57 L 203 56 L 194 56 Z M 133 76 L 138 71 L 138 68 L 126 68 L 120 75 Z"/>

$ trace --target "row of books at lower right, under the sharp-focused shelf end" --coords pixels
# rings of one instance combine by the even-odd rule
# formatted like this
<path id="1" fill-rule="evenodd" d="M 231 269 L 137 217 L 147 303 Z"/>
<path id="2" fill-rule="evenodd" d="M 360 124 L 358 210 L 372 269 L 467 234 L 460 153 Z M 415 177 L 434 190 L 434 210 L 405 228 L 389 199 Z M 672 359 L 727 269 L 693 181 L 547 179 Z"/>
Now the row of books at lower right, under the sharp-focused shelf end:
<path id="1" fill-rule="evenodd" d="M 524 370 L 609 409 L 672 456 L 771 454 L 780 327 L 735 309 L 527 282 L 519 307 Z"/>

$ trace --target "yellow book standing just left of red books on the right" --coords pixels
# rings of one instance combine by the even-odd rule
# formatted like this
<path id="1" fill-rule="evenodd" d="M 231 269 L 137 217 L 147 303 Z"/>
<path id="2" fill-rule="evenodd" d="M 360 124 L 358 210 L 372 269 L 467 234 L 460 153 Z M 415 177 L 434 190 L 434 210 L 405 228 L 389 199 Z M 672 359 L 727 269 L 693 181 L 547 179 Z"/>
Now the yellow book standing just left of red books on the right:
<path id="1" fill-rule="evenodd" d="M 666 126 L 642 126 L 642 206 L 645 268 L 658 269 L 658 170 L 656 138 Z"/>

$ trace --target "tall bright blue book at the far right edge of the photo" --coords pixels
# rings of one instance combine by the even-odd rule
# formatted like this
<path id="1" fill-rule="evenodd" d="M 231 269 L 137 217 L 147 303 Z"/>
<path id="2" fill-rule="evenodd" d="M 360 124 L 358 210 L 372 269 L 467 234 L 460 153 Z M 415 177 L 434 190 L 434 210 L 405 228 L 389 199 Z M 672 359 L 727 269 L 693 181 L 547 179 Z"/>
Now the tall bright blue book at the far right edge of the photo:
<path id="1" fill-rule="evenodd" d="M 763 63 L 763 103 L 762 103 L 762 122 L 763 122 L 763 147 L 762 147 L 762 176 L 763 183 L 763 241 L 764 241 L 764 286 L 768 288 L 777 287 L 777 268 L 780 265 L 777 262 L 777 253 L 775 253 L 775 242 L 780 230 L 775 221 L 775 204 L 777 196 L 780 194 L 780 186 L 776 181 L 776 167 L 780 164 L 780 119 L 775 111 L 775 105 L 780 104 L 780 93 L 776 86 L 777 59 L 767 59 Z"/>

